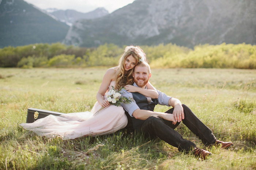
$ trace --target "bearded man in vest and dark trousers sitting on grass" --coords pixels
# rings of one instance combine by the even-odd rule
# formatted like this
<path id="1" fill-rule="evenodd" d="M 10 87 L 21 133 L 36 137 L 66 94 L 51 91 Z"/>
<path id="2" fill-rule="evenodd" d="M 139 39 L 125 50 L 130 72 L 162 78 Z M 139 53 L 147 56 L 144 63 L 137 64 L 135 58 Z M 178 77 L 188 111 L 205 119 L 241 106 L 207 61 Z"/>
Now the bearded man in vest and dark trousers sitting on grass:
<path id="1" fill-rule="evenodd" d="M 133 72 L 133 86 L 146 88 L 148 79 L 150 79 L 150 66 L 146 62 L 138 64 Z M 143 96 L 138 92 L 124 92 L 127 98 L 133 98 L 133 102 L 122 103 L 125 113 L 128 117 L 126 128 L 141 130 L 144 135 L 155 138 L 158 137 L 170 145 L 177 147 L 179 151 L 192 151 L 196 157 L 206 159 L 210 152 L 199 149 L 195 143 L 182 138 L 174 129 L 182 121 L 204 145 L 222 145 L 222 148 L 229 148 L 233 145 L 232 142 L 222 142 L 215 138 L 212 131 L 197 118 L 197 116 L 185 104 L 181 104 L 180 100 L 167 96 L 161 91 L 158 91 L 158 99 L 151 99 Z M 156 104 L 172 106 L 165 113 L 155 112 Z"/>

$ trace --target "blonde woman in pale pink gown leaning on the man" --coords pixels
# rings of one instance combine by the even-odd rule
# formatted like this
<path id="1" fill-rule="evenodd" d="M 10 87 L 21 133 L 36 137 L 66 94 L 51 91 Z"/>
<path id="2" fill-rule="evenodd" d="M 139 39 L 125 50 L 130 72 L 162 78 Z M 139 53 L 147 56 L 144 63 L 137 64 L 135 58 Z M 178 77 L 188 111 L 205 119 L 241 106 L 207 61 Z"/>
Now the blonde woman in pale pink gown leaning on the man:
<path id="1" fill-rule="evenodd" d="M 48 138 L 61 137 L 62 139 L 75 139 L 82 136 L 110 134 L 127 125 L 127 117 L 121 106 L 111 105 L 106 99 L 109 87 L 119 89 L 125 87 L 129 92 L 139 92 L 151 98 L 158 98 L 157 91 L 148 82 L 147 89 L 131 86 L 133 84 L 133 68 L 146 60 L 146 54 L 138 46 L 127 46 L 119 60 L 117 67 L 109 68 L 99 91 L 96 95 L 97 102 L 89 112 L 68 113 L 60 116 L 49 115 L 33 123 L 22 123 L 20 126 L 31 130 L 40 136 Z M 130 85 L 130 86 L 129 86 Z M 94 115 L 100 108 L 97 114 Z"/>

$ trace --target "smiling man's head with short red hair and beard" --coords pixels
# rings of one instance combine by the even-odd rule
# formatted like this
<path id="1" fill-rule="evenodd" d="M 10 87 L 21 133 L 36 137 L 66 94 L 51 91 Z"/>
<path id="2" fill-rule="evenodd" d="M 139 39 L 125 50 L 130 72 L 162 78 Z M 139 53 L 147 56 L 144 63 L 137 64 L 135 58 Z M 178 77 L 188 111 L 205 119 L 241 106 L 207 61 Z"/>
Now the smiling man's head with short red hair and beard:
<path id="1" fill-rule="evenodd" d="M 149 72 L 147 67 L 136 66 L 133 72 L 134 82 L 142 88 L 146 88 L 146 84 L 148 79 L 150 79 L 151 73 Z"/>

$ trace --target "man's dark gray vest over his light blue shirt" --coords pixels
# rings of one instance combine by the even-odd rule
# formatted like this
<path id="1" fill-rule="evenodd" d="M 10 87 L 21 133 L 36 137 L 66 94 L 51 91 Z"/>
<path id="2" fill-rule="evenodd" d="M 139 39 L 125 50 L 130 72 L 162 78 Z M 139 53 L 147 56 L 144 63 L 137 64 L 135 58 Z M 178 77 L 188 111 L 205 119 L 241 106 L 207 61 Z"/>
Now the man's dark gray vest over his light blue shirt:
<path id="1" fill-rule="evenodd" d="M 133 92 L 132 96 L 136 104 L 139 106 L 141 110 L 154 111 L 155 105 L 157 105 L 158 103 L 158 99 L 151 99 L 152 102 L 148 103 L 147 98 L 138 92 Z M 127 118 L 128 118 L 128 124 L 126 126 L 127 128 L 136 129 L 140 125 L 142 125 L 145 121 L 145 120 L 136 119 L 135 117 L 131 117 L 127 111 L 125 111 L 125 114 L 127 115 Z"/>

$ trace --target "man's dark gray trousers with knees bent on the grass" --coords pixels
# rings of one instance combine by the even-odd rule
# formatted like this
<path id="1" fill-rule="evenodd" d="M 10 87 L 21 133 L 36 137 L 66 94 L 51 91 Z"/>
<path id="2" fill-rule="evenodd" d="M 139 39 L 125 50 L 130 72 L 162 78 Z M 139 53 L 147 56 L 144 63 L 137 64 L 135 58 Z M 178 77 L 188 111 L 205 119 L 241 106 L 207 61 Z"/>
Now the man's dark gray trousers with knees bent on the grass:
<path id="1" fill-rule="evenodd" d="M 182 104 L 184 111 L 184 119 L 182 122 L 189 130 L 192 131 L 199 139 L 202 140 L 204 145 L 211 145 L 215 143 L 216 138 L 212 134 L 212 131 L 197 118 L 197 116 L 191 111 L 189 107 Z M 174 108 L 166 111 L 166 113 L 173 114 Z M 180 122 L 175 125 L 171 121 L 160 118 L 157 115 L 152 115 L 138 127 L 137 130 L 141 130 L 146 137 L 155 138 L 158 137 L 170 145 L 177 147 L 179 151 L 190 151 L 196 147 L 195 143 L 182 138 L 176 130 L 174 130 Z"/>

